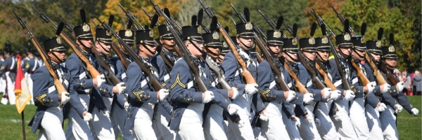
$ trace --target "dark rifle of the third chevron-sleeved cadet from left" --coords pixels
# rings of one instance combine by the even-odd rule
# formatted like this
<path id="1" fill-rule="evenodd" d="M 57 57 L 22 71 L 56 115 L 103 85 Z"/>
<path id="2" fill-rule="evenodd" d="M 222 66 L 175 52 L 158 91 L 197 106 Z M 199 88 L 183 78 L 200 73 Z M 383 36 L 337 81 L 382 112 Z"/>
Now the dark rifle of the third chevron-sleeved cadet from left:
<path id="1" fill-rule="evenodd" d="M 152 2 L 152 1 L 151 1 Z M 181 50 L 181 56 L 184 56 L 184 60 L 186 64 L 188 64 L 189 69 L 193 71 L 193 75 L 195 78 L 193 78 L 194 82 L 196 83 L 196 88 L 199 92 L 205 92 L 207 91 L 207 86 L 205 85 L 202 78 L 200 78 L 199 69 L 198 69 L 198 62 L 192 59 L 191 52 L 188 51 L 188 49 L 185 47 L 183 41 L 181 41 L 180 36 L 177 35 L 177 27 L 174 27 L 174 24 L 172 24 L 172 20 L 169 18 L 170 11 L 167 8 L 164 8 L 164 11 L 162 12 L 162 16 L 165 18 L 165 23 L 167 26 L 169 26 L 170 32 L 172 32 L 172 35 L 174 37 L 174 41 L 176 41 L 176 46 L 179 50 Z"/>

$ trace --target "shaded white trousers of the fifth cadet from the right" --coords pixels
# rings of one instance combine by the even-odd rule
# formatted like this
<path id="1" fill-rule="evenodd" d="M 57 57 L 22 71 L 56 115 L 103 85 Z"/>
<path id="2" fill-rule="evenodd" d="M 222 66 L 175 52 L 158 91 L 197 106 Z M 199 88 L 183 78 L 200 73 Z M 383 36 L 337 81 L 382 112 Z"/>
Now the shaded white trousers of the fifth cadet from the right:
<path id="1" fill-rule="evenodd" d="M 328 102 L 319 102 L 315 111 L 316 118 L 321 122 L 320 126 L 316 127 L 316 130 L 318 130 L 321 139 L 324 140 L 339 139 L 337 132 L 335 131 L 334 123 L 328 115 L 331 103 L 333 103 L 332 100 L 329 100 Z"/>

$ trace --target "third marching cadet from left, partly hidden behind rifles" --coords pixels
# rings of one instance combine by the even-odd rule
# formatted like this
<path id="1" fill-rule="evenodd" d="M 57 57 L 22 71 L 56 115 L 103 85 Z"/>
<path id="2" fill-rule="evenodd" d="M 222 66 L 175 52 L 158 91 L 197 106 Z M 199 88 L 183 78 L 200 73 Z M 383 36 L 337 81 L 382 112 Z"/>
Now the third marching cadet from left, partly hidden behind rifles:
<path id="1" fill-rule="evenodd" d="M 103 61 L 106 64 L 110 64 L 109 60 L 107 59 L 107 55 L 110 54 L 111 50 L 111 43 L 113 40 L 111 39 L 111 32 L 108 32 L 104 28 L 96 28 L 96 41 L 95 46 L 96 49 L 100 54 L 100 58 L 96 58 L 98 61 Z M 112 65 L 109 65 L 109 68 L 112 74 L 115 74 L 115 69 Z M 103 75 L 108 75 L 108 71 L 106 68 L 102 68 L 98 66 L 97 70 Z M 104 84 L 99 86 L 99 93 L 103 99 L 103 103 L 106 106 L 106 111 L 98 111 L 94 109 L 92 112 L 93 118 L 89 121 L 89 127 L 91 129 L 92 136 L 94 139 L 115 139 L 115 134 L 113 130 L 113 126 L 110 122 L 110 111 L 111 111 L 111 103 L 113 102 L 113 94 L 120 94 L 126 89 L 124 83 L 118 83 L 117 85 L 113 86 L 111 81 L 107 81 Z M 97 104 L 95 104 L 97 106 Z"/>

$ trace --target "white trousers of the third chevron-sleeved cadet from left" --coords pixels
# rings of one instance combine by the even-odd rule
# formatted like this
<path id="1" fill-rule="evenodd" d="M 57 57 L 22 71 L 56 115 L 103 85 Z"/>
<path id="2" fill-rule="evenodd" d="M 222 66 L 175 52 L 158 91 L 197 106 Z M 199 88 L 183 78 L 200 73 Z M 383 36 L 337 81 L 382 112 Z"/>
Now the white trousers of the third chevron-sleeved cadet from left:
<path id="1" fill-rule="evenodd" d="M 204 104 L 189 104 L 181 116 L 176 139 L 205 139 L 203 132 Z"/>

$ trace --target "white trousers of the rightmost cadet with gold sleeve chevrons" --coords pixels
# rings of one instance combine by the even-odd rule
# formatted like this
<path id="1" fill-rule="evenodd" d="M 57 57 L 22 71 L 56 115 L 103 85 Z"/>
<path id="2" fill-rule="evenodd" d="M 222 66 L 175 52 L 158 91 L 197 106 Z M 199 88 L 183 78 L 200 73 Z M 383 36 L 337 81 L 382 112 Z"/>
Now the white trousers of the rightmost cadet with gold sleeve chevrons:
<path id="1" fill-rule="evenodd" d="M 268 114 L 267 121 L 261 121 L 261 132 L 265 132 L 267 139 L 290 139 L 286 130 L 286 125 L 283 123 L 282 104 L 277 102 L 269 102 L 266 111 Z"/>

